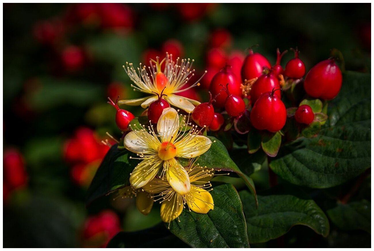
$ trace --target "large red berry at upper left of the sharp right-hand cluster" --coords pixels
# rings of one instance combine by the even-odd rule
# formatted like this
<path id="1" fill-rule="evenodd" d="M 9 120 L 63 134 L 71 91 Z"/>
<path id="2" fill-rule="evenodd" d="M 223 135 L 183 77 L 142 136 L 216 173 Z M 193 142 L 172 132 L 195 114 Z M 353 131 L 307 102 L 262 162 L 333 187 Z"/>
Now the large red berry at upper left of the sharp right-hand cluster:
<path id="1" fill-rule="evenodd" d="M 221 71 L 217 72 L 212 78 L 209 86 L 209 91 L 215 96 L 215 108 L 222 108 L 225 106 L 227 93 L 222 86 L 226 86 L 231 94 L 241 96 L 242 89 L 240 89 L 241 81 L 233 73 L 231 66 L 226 65 Z M 220 94 L 219 96 L 217 96 Z"/>

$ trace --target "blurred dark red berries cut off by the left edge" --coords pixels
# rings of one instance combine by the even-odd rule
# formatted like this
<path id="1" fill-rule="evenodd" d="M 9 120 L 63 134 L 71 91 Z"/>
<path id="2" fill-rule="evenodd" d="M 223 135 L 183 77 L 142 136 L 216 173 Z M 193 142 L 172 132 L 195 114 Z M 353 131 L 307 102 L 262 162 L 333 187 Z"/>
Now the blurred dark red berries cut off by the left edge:
<path id="1" fill-rule="evenodd" d="M 17 149 L 4 151 L 3 175 L 3 201 L 6 201 L 12 191 L 27 184 L 25 161 Z"/>

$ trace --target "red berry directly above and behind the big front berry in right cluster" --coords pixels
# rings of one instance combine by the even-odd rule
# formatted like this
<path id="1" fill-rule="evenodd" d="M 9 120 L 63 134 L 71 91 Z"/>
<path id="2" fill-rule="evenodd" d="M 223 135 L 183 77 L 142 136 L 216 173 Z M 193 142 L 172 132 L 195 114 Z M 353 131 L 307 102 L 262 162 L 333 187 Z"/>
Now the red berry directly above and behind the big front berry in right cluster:
<path id="1" fill-rule="evenodd" d="M 279 80 L 272 71 L 258 77 L 251 89 L 251 103 L 254 104 L 261 94 L 271 92 L 276 86 L 279 86 Z M 281 97 L 281 89 L 277 89 L 274 93 Z"/>

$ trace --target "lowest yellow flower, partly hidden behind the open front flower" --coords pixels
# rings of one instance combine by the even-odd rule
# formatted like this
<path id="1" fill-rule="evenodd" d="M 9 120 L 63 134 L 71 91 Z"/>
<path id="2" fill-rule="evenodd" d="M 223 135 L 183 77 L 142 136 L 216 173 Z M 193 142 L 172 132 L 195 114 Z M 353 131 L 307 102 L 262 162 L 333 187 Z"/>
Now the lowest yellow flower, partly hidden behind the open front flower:
<path id="1" fill-rule="evenodd" d="M 214 209 L 213 198 L 209 193 L 213 189 L 205 190 L 212 186 L 208 180 L 214 175 L 213 169 L 200 167 L 199 164 L 193 166 L 193 163 L 187 170 L 191 188 L 185 195 L 180 195 L 168 182 L 161 179 L 153 179 L 143 186 L 145 192 L 151 194 L 159 193 L 159 195 L 153 197 L 159 197 L 154 201 L 160 201 L 161 203 L 160 215 L 162 221 L 170 223 L 170 221 L 178 218 L 186 204 L 189 211 L 192 210 L 200 214 L 206 214 L 209 210 Z"/>

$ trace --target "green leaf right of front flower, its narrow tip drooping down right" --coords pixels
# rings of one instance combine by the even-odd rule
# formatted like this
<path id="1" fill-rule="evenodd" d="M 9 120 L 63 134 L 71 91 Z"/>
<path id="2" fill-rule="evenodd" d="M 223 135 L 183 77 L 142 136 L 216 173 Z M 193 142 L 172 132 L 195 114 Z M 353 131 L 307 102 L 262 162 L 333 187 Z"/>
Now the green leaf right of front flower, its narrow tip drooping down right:
<path id="1" fill-rule="evenodd" d="M 230 158 L 229 152 L 227 152 L 226 147 L 223 143 L 215 137 L 208 136 L 212 140 L 212 145 L 208 151 L 200 155 L 198 163 L 201 166 L 206 166 L 208 168 L 214 168 L 215 170 L 223 170 L 235 172 L 239 177 L 241 177 L 251 192 L 256 197 L 256 189 L 251 178 L 246 176 L 240 169 L 237 167 L 235 162 Z M 215 141 L 215 142 L 214 142 Z"/>

